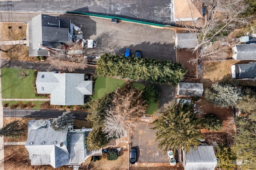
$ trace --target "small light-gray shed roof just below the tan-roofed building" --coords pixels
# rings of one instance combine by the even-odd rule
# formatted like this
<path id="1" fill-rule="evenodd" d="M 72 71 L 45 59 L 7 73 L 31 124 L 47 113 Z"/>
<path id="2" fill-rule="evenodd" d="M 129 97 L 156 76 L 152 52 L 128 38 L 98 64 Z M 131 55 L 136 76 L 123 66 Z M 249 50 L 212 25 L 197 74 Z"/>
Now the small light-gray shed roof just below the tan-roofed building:
<path id="1" fill-rule="evenodd" d="M 182 33 L 176 34 L 175 47 L 176 49 L 194 48 L 197 45 L 197 37 L 195 34 Z"/>

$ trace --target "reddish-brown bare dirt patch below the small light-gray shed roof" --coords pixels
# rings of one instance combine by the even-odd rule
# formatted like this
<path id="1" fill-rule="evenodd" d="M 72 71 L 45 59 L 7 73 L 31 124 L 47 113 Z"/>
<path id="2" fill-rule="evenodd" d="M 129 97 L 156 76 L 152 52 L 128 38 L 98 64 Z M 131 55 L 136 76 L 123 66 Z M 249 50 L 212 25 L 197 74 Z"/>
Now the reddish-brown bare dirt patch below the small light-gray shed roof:
<path id="1" fill-rule="evenodd" d="M 196 53 L 193 54 L 191 51 L 187 51 L 186 49 L 177 49 L 176 55 L 177 62 L 181 63 L 182 66 L 188 70 L 185 77 L 198 78 L 197 64 L 192 65 L 192 63 L 188 63 L 191 58 L 196 58 Z"/>

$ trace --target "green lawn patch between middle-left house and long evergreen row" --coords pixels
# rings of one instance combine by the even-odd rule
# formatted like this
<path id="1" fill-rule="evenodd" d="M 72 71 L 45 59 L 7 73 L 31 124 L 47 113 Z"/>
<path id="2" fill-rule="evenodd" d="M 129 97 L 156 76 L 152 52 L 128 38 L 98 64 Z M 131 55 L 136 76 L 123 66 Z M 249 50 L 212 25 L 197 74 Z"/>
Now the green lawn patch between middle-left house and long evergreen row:
<path id="1" fill-rule="evenodd" d="M 124 80 L 97 76 L 92 98 L 99 99 L 106 95 L 106 93 L 115 91 L 118 86 L 123 87 L 124 83 Z"/>

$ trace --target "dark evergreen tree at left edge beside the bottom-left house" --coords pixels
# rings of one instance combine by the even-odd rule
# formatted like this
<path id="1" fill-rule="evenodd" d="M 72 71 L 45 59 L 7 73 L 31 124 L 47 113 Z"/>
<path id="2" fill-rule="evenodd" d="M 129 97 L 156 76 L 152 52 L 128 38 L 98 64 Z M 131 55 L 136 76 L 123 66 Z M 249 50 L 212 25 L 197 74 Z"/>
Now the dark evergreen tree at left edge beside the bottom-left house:
<path id="1" fill-rule="evenodd" d="M 21 121 L 12 121 L 0 129 L 0 136 L 18 138 L 24 135 L 25 124 Z"/>

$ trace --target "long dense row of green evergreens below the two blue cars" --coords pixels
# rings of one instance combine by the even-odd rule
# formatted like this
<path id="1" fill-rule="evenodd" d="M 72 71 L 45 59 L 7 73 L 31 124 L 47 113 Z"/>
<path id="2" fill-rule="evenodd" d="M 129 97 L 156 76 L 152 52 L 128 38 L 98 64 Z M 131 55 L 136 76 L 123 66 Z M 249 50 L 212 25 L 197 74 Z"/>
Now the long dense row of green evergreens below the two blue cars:
<path id="1" fill-rule="evenodd" d="M 104 53 L 97 61 L 96 73 L 100 76 L 144 80 L 152 83 L 178 84 L 187 70 L 180 63 L 151 58 L 124 57 Z"/>

